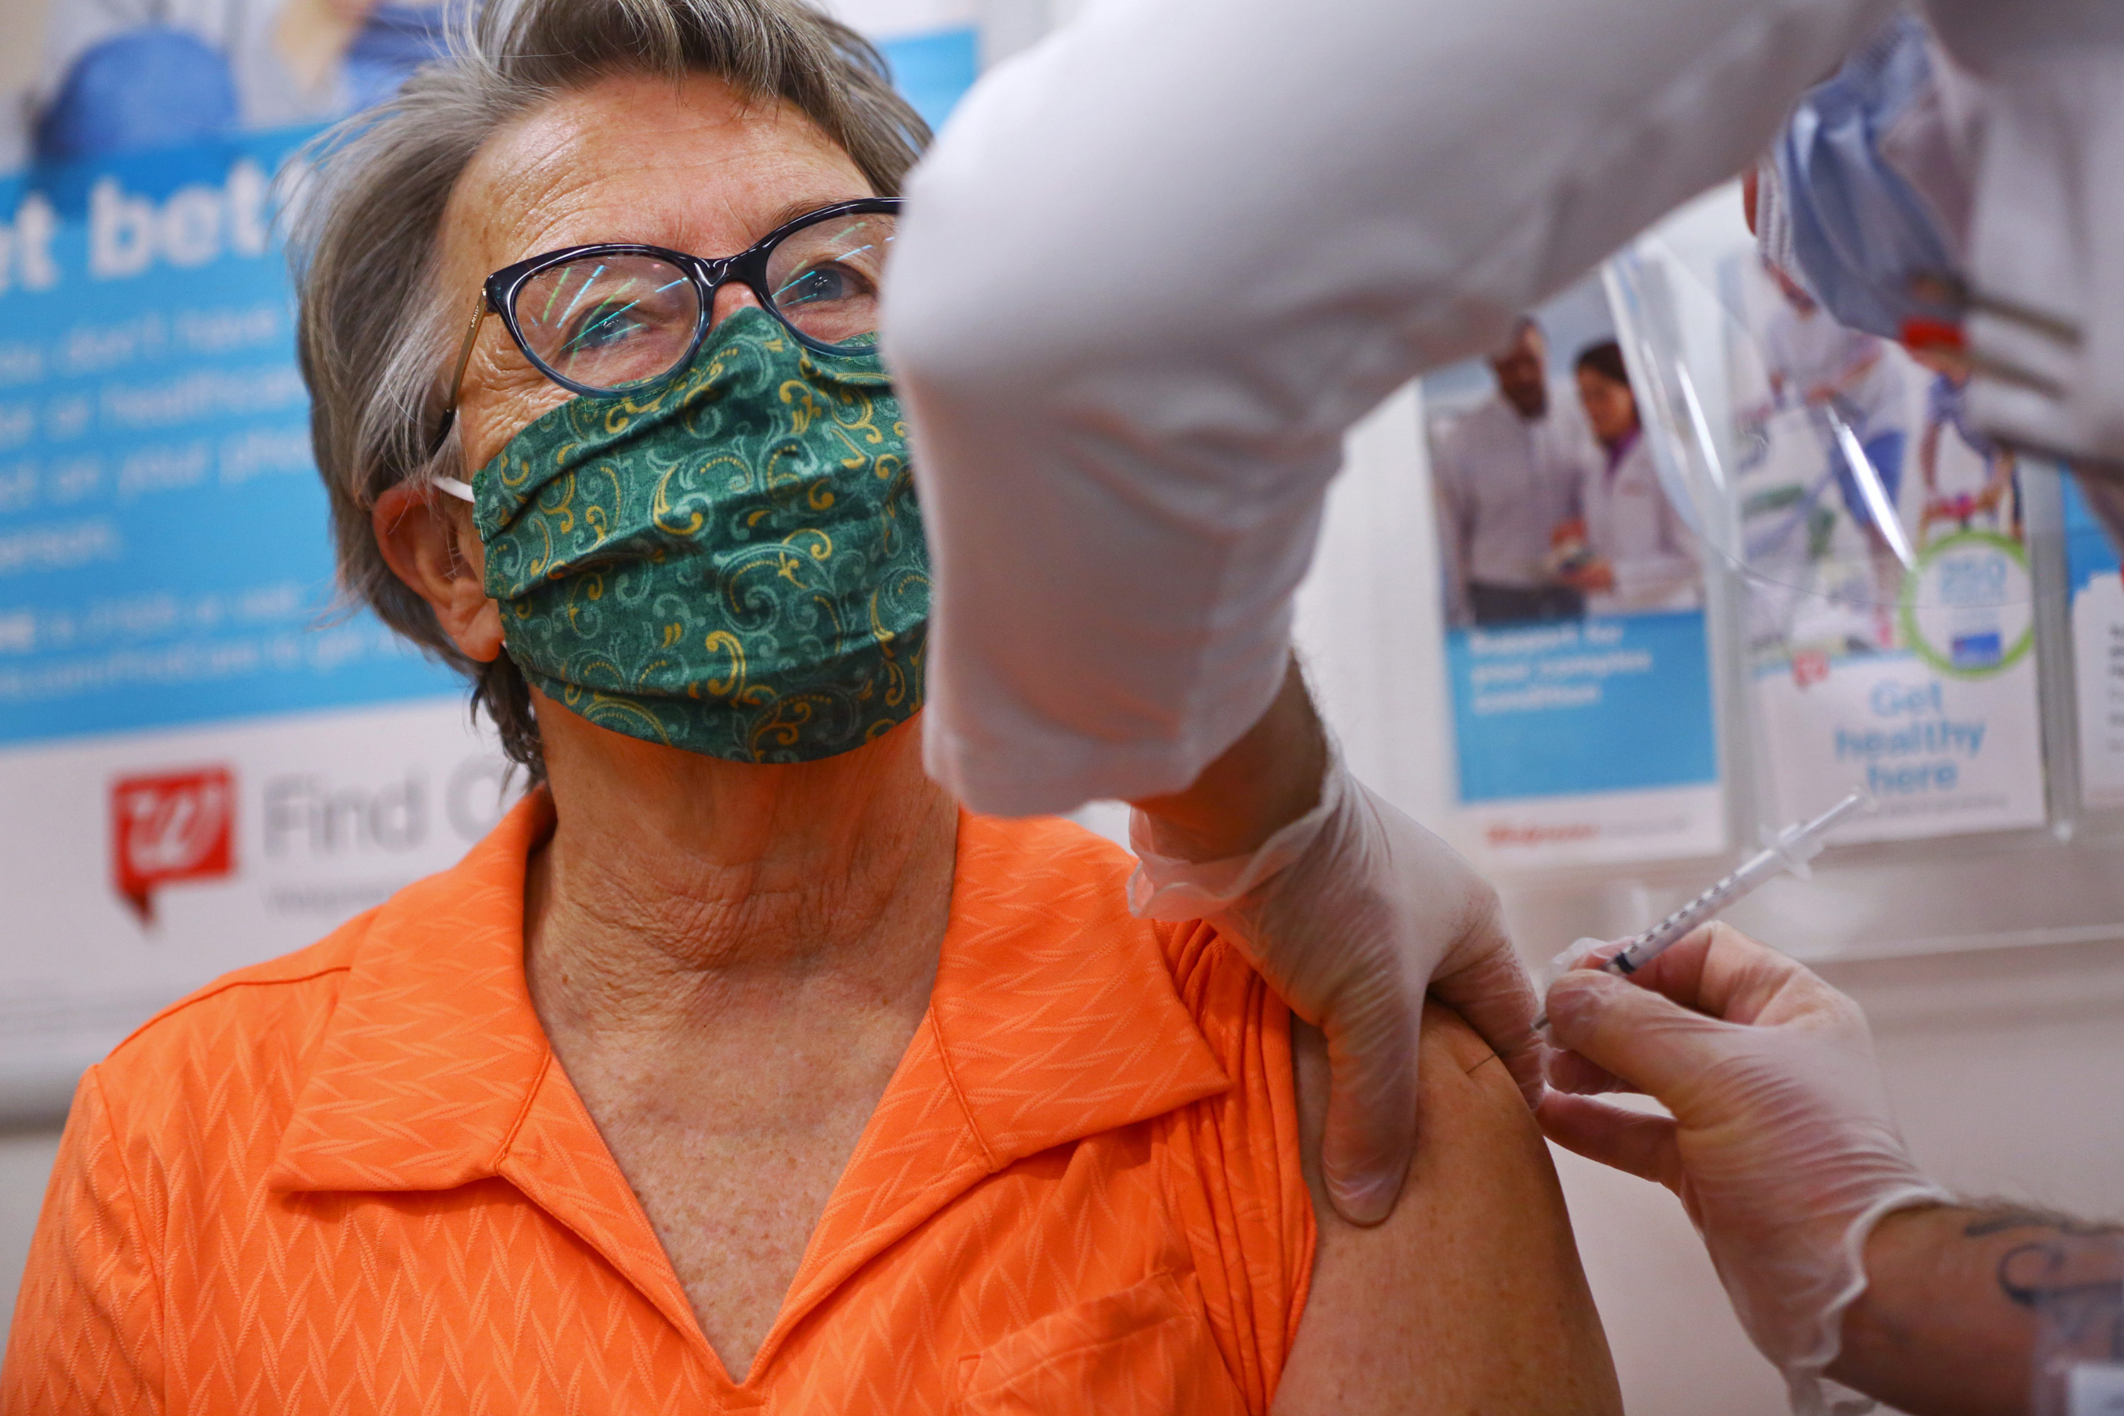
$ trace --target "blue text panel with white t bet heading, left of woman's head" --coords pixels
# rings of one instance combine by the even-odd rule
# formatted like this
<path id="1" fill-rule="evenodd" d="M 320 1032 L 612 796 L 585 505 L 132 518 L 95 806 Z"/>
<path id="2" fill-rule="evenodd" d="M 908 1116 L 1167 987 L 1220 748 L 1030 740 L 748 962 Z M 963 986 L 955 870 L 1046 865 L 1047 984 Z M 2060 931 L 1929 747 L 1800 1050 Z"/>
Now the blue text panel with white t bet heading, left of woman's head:
<path id="1" fill-rule="evenodd" d="M 0 180 L 0 743 L 459 692 L 333 590 L 274 240 L 312 132 Z"/>

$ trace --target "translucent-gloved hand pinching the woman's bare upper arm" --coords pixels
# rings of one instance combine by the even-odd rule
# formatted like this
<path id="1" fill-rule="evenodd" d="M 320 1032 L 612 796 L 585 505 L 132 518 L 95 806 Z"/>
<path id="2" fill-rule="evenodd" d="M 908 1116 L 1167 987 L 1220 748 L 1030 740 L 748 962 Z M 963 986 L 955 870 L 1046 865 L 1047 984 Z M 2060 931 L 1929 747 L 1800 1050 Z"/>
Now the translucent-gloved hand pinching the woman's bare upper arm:
<path id="1" fill-rule="evenodd" d="M 1527 1104 L 1540 1102 L 1534 987 L 1497 921 L 1497 892 L 1351 777 L 1332 743 L 1319 805 L 1253 856 L 1189 862 L 1162 853 L 1158 836 L 1151 817 L 1130 815 L 1141 858 L 1130 906 L 1206 919 L 1328 1034 L 1321 1168 L 1342 1216 L 1378 1223 L 1402 1193 L 1425 987 L 1497 1049 Z"/>

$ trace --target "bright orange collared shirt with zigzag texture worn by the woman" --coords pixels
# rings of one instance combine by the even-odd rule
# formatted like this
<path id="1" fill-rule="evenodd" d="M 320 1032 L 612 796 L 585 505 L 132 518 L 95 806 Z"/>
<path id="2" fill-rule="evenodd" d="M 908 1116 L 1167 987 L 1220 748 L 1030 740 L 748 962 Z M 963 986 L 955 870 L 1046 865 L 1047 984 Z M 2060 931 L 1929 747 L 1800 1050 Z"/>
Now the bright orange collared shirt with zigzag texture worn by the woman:
<path id="1" fill-rule="evenodd" d="M 1268 1410 L 1313 1265 L 1289 1019 L 1132 919 L 1117 849 L 960 817 L 928 1015 L 739 1386 L 531 1011 L 550 824 L 89 1070 L 0 1410 Z"/>

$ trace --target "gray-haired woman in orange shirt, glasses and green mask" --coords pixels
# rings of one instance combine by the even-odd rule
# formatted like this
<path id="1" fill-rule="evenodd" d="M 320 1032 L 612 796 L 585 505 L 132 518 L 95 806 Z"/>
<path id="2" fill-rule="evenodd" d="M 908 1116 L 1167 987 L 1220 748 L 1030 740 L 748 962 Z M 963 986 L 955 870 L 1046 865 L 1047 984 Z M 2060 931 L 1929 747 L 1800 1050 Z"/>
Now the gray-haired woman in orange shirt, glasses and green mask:
<path id="1" fill-rule="evenodd" d="M 342 569 L 537 785 L 89 1072 L 0 1405 L 1614 1410 L 1463 1025 L 1344 1227 L 1319 1040 L 1236 949 L 924 777 L 871 348 L 920 136 L 796 0 L 527 0 L 331 155 Z"/>

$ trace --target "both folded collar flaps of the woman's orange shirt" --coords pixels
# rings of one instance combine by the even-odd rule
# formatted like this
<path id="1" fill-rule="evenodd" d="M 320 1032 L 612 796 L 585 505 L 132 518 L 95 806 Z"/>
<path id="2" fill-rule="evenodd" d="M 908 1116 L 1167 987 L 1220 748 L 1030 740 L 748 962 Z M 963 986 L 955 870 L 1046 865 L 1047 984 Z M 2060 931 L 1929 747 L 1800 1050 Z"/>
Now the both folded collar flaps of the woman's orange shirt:
<path id="1" fill-rule="evenodd" d="M 552 798 L 533 792 L 459 866 L 370 919 L 272 1189 L 421 1191 L 501 1174 L 552 1057 L 523 968 L 525 866 L 550 830 Z M 909 1055 L 932 1047 L 971 1132 L 958 1142 L 983 1172 L 1228 1087 L 1158 930 L 1128 913 L 1126 868 L 1064 822 L 960 815 L 928 1036 Z M 888 1100 L 928 1085 L 913 1072 L 903 1066 Z"/>

